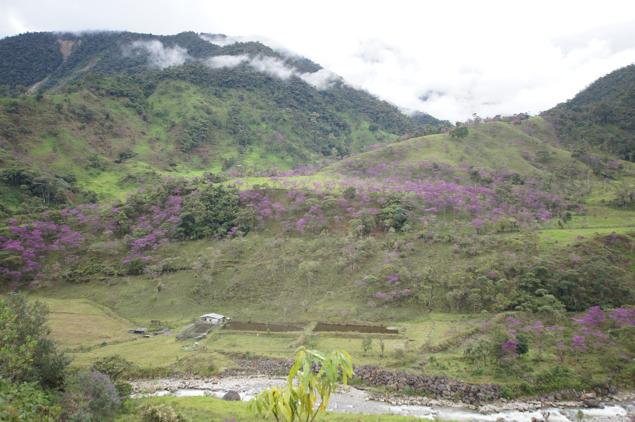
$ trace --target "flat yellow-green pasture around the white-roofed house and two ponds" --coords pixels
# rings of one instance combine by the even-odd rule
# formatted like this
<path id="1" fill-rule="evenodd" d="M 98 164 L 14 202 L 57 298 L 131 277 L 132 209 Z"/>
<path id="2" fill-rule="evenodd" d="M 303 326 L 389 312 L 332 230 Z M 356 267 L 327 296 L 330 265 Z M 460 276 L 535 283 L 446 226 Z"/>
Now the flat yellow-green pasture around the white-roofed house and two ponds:
<path id="1" fill-rule="evenodd" d="M 175 341 L 175 335 L 187 324 L 168 325 L 173 328 L 172 335 L 144 337 L 128 334 L 127 330 L 137 325 L 147 327 L 150 318 L 157 317 L 156 312 L 144 316 L 146 324 L 130 323 L 107 307 L 91 304 L 88 300 L 49 299 L 51 307 L 52 335 L 60 340 L 60 347 L 69 347 L 74 357 L 74 366 L 90 366 L 98 357 L 119 354 L 137 365 L 140 373 L 161 376 L 173 370 L 195 371 L 197 373 L 222 373 L 226 369 L 237 368 L 231 357 L 257 355 L 257 359 L 291 358 L 292 343 L 300 333 L 271 333 L 255 331 L 213 331 L 207 338 L 200 340 L 185 339 Z M 231 312 L 227 312 L 231 314 Z M 163 314 L 166 315 L 166 314 Z M 192 314 L 195 319 L 197 314 Z M 486 319 L 493 317 L 472 317 L 467 314 L 433 313 L 413 316 L 408 321 L 377 321 L 374 324 L 395 326 L 398 335 L 366 335 L 364 333 L 317 333 L 309 338 L 305 345 L 318 350 L 346 350 L 355 364 L 377 365 L 382 368 L 405 371 L 425 371 L 428 374 L 447 374 L 470 382 L 516 383 L 515 375 L 494 373 L 496 368 L 491 362 L 476 371 L 474 364 L 465 359 L 463 350 L 473 335 L 478 335 L 479 327 Z M 276 321 L 278 323 L 298 323 L 293 319 Z M 240 319 L 235 319 L 238 321 Z M 175 321 L 175 320 L 173 320 Z M 255 319 L 267 322 L 265 316 Z M 364 324 L 354 319 L 334 320 L 328 313 L 319 315 L 316 321 L 346 324 Z M 162 324 L 163 321 L 162 321 Z M 402 331 L 403 328 L 406 331 Z M 151 327 L 150 327 L 151 328 Z M 364 353 L 362 342 L 366 336 L 372 339 L 371 349 Z M 381 355 L 380 338 L 384 338 L 385 350 Z M 195 347 L 194 342 L 199 344 Z M 439 347 L 441 352 L 434 352 Z M 518 359 L 518 364 L 526 367 L 528 373 L 551 367 L 555 359 L 549 350 L 543 351 L 544 359 L 537 359 L 538 352 L 533 348 L 527 355 Z M 423 366 L 413 364 L 424 363 Z M 569 364 L 573 364 L 572 361 Z M 603 372 L 601 355 L 587 354 L 573 364 L 594 373 Z"/>

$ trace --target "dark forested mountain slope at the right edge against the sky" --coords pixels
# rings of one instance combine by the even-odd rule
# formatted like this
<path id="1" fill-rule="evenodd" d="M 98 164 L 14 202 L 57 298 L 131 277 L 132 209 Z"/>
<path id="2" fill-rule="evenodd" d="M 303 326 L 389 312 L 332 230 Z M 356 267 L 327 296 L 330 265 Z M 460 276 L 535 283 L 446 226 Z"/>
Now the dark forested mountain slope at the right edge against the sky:
<path id="1" fill-rule="evenodd" d="M 635 65 L 614 70 L 542 114 L 580 157 L 593 146 L 635 161 Z"/>

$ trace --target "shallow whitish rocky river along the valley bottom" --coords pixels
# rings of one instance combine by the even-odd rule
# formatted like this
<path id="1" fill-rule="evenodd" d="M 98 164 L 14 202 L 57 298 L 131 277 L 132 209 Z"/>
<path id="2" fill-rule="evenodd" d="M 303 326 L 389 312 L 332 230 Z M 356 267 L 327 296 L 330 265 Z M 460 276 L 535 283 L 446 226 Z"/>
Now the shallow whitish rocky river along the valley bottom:
<path id="1" fill-rule="evenodd" d="M 231 376 L 201 377 L 194 374 L 178 378 L 131 381 L 133 397 L 141 395 L 173 395 L 187 397 L 207 395 L 221 399 L 228 392 L 236 392 L 241 400 L 250 400 L 253 395 L 272 385 L 283 386 L 285 378 L 262 374 L 241 374 Z M 598 397 L 595 393 L 575 400 L 551 400 L 545 397 L 522 402 L 507 402 L 504 399 L 479 403 L 479 406 L 448 399 L 427 399 L 408 397 L 401 394 L 377 393 L 364 387 L 340 386 L 328 404 L 328 411 L 363 414 L 400 414 L 424 419 L 452 419 L 457 421 L 483 422 L 573 422 L 577 412 L 582 410 L 585 421 L 591 422 L 631 422 L 635 415 L 635 392 L 620 392 L 608 397 Z M 594 406 L 584 404 L 584 400 L 594 400 Z"/>

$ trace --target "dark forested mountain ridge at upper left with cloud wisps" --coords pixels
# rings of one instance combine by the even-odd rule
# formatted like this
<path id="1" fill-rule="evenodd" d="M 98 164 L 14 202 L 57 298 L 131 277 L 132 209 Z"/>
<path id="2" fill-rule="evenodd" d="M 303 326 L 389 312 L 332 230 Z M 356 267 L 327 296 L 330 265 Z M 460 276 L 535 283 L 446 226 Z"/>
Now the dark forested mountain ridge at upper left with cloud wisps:
<path id="1" fill-rule="evenodd" d="M 175 60 L 175 64 L 204 63 L 215 56 L 271 58 L 277 62 L 273 63 L 274 67 L 284 67 L 283 73 L 291 71 L 309 75 L 323 69 L 302 56 L 285 57 L 260 42 L 236 42 L 218 46 L 207 41 L 223 37 L 222 34 L 195 32 L 152 35 L 114 31 L 86 34 L 38 32 L 15 35 L 0 40 L 0 86 L 6 86 L 4 91 L 10 93 L 11 90 L 19 91 L 20 88 L 17 86 L 29 87 L 46 77 L 38 87 L 47 93 L 58 93 L 67 83 L 87 72 L 135 75 L 168 67 L 173 64 L 171 60 Z M 54 51 L 62 46 L 67 49 L 64 60 L 61 53 Z M 47 54 L 43 54 L 44 50 Z M 276 74 L 279 70 L 270 68 L 269 73 Z M 333 77 L 333 80 L 340 78 Z M 358 92 L 375 100 L 375 97 L 369 94 Z M 392 113 L 396 117 L 401 114 L 395 106 L 385 104 L 394 109 Z M 382 125 L 380 121 L 375 123 Z M 438 120 L 427 113 L 418 113 L 416 122 L 412 120 L 409 123 L 411 127 L 425 124 L 435 127 L 441 124 L 450 125 L 449 122 Z M 403 128 L 399 130 L 402 133 L 404 131 Z"/>

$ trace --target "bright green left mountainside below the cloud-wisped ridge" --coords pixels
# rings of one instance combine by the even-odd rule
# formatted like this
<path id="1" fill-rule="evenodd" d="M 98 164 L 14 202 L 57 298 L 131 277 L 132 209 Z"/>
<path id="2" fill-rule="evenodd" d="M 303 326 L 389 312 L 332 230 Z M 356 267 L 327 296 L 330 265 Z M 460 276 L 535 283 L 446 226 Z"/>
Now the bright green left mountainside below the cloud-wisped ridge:
<path id="1" fill-rule="evenodd" d="M 236 166 L 269 174 L 328 160 L 323 153 L 346 155 L 397 139 L 369 131 L 354 111 L 328 105 L 318 108 L 324 115 L 280 110 L 248 89 L 210 97 L 185 80 L 163 79 L 139 105 L 138 98 L 107 93 L 109 84 L 121 89 L 119 80 L 88 81 L 72 85 L 75 93 L 2 100 L 4 167 L 50 174 L 86 193 L 79 201 L 95 201 L 91 191 L 104 201 L 166 174 L 195 177 Z M 20 193 L 9 189 L 4 200 L 15 203 Z M 66 195 L 57 204 L 76 201 Z"/>

